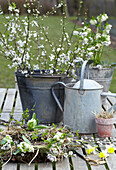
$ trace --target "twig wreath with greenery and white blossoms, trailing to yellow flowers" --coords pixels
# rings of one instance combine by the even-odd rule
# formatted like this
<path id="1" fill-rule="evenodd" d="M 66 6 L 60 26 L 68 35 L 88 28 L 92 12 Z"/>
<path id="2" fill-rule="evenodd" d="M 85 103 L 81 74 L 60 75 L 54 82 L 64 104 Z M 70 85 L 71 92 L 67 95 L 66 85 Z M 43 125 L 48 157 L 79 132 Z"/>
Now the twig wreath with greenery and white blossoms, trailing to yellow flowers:
<path id="1" fill-rule="evenodd" d="M 9 161 L 23 162 L 30 165 L 32 162 L 57 162 L 70 156 L 80 156 L 78 147 L 84 147 L 88 155 L 99 153 L 99 160 L 90 159 L 88 156 L 81 155 L 85 161 L 93 161 L 104 164 L 108 153 L 115 151 L 113 144 L 100 146 L 84 140 L 78 131 L 71 130 L 63 125 L 41 125 L 36 119 L 35 113 L 30 120 L 28 119 L 28 109 L 23 113 L 20 122 L 13 119 L 11 114 L 10 121 L 4 123 L 6 128 L 0 131 L 0 162 L 2 167 Z M 26 120 L 26 121 L 25 121 Z M 27 122 L 27 123 L 26 123 Z"/>

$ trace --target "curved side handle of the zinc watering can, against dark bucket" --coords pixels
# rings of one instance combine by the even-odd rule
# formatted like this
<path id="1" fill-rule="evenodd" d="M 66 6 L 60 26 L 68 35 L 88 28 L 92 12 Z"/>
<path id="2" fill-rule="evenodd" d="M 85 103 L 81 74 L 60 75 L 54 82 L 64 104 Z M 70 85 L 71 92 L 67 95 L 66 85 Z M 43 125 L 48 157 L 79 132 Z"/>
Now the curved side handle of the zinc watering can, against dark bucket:
<path id="1" fill-rule="evenodd" d="M 58 100 L 58 98 L 56 97 L 56 94 L 55 94 L 55 92 L 54 92 L 54 87 L 57 86 L 57 85 L 59 85 L 59 84 L 60 84 L 60 85 L 63 85 L 64 87 L 66 87 L 65 83 L 63 83 L 63 82 L 56 82 L 54 85 L 52 85 L 51 90 L 52 90 L 52 95 L 53 95 L 56 103 L 58 104 L 61 112 L 64 112 L 64 111 L 63 111 L 63 108 L 62 108 L 62 105 L 60 104 L 60 102 L 59 102 L 59 100 Z"/>

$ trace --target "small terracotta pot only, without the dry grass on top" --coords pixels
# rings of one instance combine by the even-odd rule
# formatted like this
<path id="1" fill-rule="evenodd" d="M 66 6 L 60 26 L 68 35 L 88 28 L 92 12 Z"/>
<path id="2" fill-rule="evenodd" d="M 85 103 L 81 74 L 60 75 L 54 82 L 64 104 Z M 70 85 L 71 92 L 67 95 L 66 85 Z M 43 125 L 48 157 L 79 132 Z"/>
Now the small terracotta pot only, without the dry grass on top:
<path id="1" fill-rule="evenodd" d="M 96 118 L 97 130 L 99 137 L 111 137 L 114 118 L 103 119 Z"/>

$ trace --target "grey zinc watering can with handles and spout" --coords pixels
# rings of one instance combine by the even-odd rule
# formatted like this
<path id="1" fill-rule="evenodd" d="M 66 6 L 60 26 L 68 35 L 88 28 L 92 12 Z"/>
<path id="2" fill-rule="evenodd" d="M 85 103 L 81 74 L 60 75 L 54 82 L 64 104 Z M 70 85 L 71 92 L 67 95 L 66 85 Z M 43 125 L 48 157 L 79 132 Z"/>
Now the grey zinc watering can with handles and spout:
<path id="1" fill-rule="evenodd" d="M 71 130 L 79 130 L 80 134 L 97 133 L 95 116 L 93 113 L 102 111 L 101 96 L 113 96 L 116 94 L 103 93 L 103 86 L 94 80 L 84 79 L 85 67 L 88 61 L 84 61 L 81 69 L 81 78 L 77 83 L 56 82 L 52 86 L 53 97 L 63 112 L 64 125 Z M 64 108 L 55 95 L 54 87 L 65 87 Z"/>

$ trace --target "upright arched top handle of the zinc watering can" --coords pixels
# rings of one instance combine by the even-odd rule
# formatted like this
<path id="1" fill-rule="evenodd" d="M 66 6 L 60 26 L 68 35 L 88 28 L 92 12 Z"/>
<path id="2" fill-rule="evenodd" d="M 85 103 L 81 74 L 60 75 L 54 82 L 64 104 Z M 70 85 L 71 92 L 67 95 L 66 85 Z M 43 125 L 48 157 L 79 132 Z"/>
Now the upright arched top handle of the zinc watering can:
<path id="1" fill-rule="evenodd" d="M 84 73 L 85 73 L 85 68 L 88 63 L 88 60 L 85 60 L 83 62 L 82 68 L 81 68 L 81 78 L 80 78 L 80 90 L 83 90 L 83 85 L 84 85 Z M 89 72 L 89 65 L 88 65 L 88 72 Z M 89 75 L 89 74 L 88 74 Z"/>

